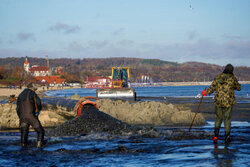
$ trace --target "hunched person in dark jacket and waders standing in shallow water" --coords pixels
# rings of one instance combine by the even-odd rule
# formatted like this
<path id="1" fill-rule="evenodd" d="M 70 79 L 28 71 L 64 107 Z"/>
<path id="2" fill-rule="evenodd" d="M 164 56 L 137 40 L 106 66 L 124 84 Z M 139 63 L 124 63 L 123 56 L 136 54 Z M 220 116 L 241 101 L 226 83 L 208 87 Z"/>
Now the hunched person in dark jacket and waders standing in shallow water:
<path id="1" fill-rule="evenodd" d="M 17 115 L 20 119 L 21 145 L 28 144 L 28 133 L 30 125 L 37 132 L 37 147 L 42 147 L 44 140 L 44 129 L 38 119 L 42 109 L 41 100 L 35 93 L 36 87 L 33 83 L 28 84 L 27 89 L 17 98 Z"/>

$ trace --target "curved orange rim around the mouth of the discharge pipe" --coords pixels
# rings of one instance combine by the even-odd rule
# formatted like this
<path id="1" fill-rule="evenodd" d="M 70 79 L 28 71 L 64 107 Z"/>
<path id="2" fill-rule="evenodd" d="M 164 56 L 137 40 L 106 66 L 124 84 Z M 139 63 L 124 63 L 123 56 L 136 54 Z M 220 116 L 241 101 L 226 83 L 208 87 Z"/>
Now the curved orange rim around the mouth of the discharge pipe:
<path id="1" fill-rule="evenodd" d="M 76 103 L 75 107 L 74 107 L 74 112 L 76 113 L 75 116 L 81 116 L 82 114 L 82 108 L 84 105 L 92 105 L 94 106 L 96 109 L 98 109 L 97 103 L 100 101 L 99 98 L 97 97 L 93 97 L 93 96 L 87 96 L 84 98 L 81 98 L 78 103 Z"/>

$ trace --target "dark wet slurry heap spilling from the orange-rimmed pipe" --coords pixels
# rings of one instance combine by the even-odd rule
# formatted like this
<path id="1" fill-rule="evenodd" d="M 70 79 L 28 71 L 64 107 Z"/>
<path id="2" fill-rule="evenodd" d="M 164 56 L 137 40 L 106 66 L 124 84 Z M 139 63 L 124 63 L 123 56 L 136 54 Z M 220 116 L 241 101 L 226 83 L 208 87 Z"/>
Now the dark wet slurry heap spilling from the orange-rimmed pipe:
<path id="1" fill-rule="evenodd" d="M 131 125 L 122 122 L 92 105 L 83 107 L 82 115 L 65 122 L 46 132 L 47 137 L 62 136 L 85 136 L 90 134 L 102 134 L 102 139 L 112 139 L 116 137 L 166 137 L 165 139 L 178 140 L 188 137 L 207 138 L 211 135 L 206 132 L 187 132 L 185 130 L 161 130 L 150 126 Z"/>

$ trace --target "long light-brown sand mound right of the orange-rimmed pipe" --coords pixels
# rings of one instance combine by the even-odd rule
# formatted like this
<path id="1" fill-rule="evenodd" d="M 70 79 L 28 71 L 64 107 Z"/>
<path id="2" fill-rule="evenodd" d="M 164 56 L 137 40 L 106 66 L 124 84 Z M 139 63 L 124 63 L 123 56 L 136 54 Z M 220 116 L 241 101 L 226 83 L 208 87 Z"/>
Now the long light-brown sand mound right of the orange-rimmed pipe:
<path id="1" fill-rule="evenodd" d="M 136 102 L 102 99 L 99 110 L 133 125 L 188 126 L 195 115 L 188 107 L 164 102 Z M 198 113 L 194 125 L 204 125 L 205 119 Z"/>

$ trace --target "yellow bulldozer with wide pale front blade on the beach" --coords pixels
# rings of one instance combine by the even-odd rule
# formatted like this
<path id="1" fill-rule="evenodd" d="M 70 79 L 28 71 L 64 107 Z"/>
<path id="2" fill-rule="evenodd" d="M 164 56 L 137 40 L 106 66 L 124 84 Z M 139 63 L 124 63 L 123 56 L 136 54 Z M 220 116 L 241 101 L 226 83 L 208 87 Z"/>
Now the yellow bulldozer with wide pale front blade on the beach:
<path id="1" fill-rule="evenodd" d="M 111 87 L 97 89 L 98 98 L 136 100 L 136 92 L 131 88 L 129 67 L 112 67 Z"/>

